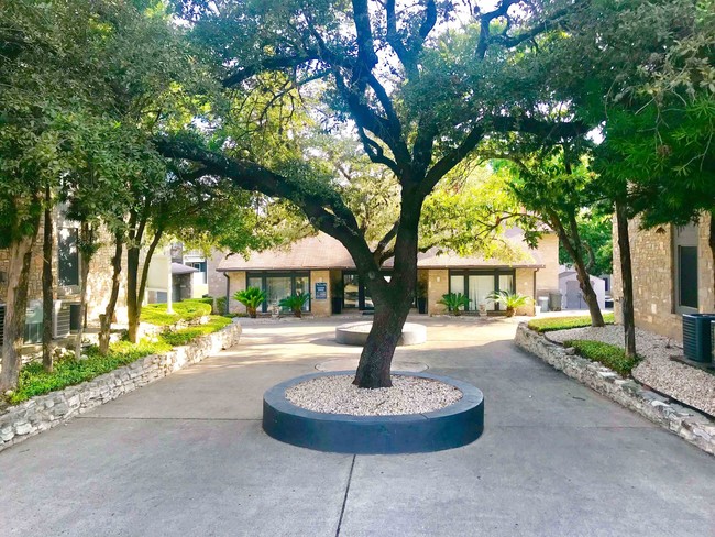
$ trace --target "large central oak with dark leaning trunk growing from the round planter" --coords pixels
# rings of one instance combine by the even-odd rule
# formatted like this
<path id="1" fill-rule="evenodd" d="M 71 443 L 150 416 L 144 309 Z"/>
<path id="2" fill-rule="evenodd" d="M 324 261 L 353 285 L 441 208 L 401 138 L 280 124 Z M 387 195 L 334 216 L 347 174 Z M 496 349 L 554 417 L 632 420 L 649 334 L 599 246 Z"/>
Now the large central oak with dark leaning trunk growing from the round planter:
<path id="1" fill-rule="evenodd" d="M 383 238 L 377 250 L 371 248 L 339 189 L 317 178 L 310 154 L 292 166 L 265 167 L 231 146 L 211 151 L 185 141 L 157 142 L 165 155 L 196 162 L 207 174 L 289 199 L 317 229 L 344 244 L 375 304 L 354 382 L 389 386 L 415 294 L 427 196 L 491 133 L 528 131 L 563 140 L 582 129 L 542 113 L 538 105 L 548 94 L 547 77 L 525 65 L 526 53 L 538 52 L 535 42 L 558 39 L 554 29 L 573 4 L 502 0 L 468 14 L 473 19 L 460 25 L 454 6 L 433 0 L 411 8 L 392 0 L 180 3 L 195 35 L 224 66 L 224 87 L 262 90 L 276 73 L 297 87 L 315 81 L 322 105 L 315 113 L 327 111 L 327 128 L 354 128 L 369 158 L 399 184 L 398 216 L 388 230 L 394 272 L 387 281 L 378 259 L 380 245 L 391 241 Z"/>

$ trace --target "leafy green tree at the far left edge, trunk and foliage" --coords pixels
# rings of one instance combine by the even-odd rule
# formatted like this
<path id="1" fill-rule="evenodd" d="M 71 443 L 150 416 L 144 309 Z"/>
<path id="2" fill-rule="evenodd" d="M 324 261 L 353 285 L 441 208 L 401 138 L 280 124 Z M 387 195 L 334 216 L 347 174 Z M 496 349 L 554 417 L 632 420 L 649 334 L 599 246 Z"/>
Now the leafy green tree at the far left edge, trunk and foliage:
<path id="1" fill-rule="evenodd" d="M 86 4 L 9 0 L 0 20 L 0 248 L 9 250 L 0 391 L 16 384 L 43 199 L 65 169 L 64 117 L 91 101 L 98 37 Z M 79 23 L 78 23 L 79 21 Z M 63 84 L 58 84 L 63 80 Z M 50 196 L 47 191 L 50 190 Z M 51 207 L 47 207 L 51 210 Z M 47 230 L 51 231 L 51 230 Z M 47 280 L 47 275 L 45 275 Z"/>

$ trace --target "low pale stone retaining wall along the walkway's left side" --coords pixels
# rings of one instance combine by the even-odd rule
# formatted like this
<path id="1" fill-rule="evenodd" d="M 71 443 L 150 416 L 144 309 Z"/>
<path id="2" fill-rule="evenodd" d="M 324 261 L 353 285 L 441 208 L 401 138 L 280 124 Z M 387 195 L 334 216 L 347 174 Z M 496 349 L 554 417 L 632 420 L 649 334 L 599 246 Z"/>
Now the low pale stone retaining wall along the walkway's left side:
<path id="1" fill-rule="evenodd" d="M 196 338 L 186 347 L 152 354 L 91 381 L 38 395 L 12 406 L 0 415 L 0 451 L 122 394 L 200 362 L 237 344 L 240 338 L 241 325 L 233 322 L 217 332 Z"/>

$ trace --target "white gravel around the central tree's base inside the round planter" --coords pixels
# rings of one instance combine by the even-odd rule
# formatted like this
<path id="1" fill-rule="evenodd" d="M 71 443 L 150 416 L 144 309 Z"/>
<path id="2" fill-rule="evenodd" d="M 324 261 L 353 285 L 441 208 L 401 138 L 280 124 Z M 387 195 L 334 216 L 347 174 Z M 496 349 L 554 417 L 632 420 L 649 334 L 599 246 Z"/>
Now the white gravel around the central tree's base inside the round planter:
<path id="1" fill-rule="evenodd" d="M 443 382 L 393 375 L 393 387 L 365 390 L 351 375 L 319 376 L 286 391 L 296 406 L 326 414 L 395 416 L 439 410 L 462 398 L 462 392 Z"/>

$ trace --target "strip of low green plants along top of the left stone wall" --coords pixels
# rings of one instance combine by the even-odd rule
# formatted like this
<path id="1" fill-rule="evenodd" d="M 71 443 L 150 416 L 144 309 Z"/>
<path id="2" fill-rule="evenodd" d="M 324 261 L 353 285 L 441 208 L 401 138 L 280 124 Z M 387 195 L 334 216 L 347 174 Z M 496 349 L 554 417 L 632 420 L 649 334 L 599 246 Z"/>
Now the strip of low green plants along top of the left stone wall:
<path id="1" fill-rule="evenodd" d="M 106 357 L 99 353 L 97 347 L 90 347 L 87 349 L 86 360 L 76 361 L 73 355 L 56 360 L 52 373 L 46 373 L 42 369 L 42 363 L 29 363 L 20 371 L 18 388 L 6 399 L 11 405 L 16 405 L 35 395 L 43 395 L 74 384 L 91 381 L 96 376 L 109 373 L 117 368 L 150 354 L 166 352 L 172 347 L 187 344 L 199 336 L 216 332 L 230 324 L 231 319 L 212 316 L 206 325 L 164 332 L 157 338 L 157 341 L 143 340 L 138 344 L 132 344 L 129 341 L 118 341 L 110 346 L 109 353 Z"/>

